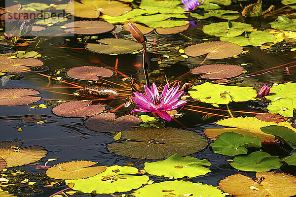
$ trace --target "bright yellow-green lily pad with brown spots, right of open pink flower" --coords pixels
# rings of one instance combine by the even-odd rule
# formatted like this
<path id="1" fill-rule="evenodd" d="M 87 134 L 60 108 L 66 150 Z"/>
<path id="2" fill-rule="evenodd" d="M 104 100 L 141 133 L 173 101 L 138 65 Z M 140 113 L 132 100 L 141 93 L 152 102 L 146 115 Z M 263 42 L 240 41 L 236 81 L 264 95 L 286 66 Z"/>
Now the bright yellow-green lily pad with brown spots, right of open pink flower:
<path id="1" fill-rule="evenodd" d="M 253 87 L 226 86 L 209 82 L 193 86 L 192 91 L 188 93 L 190 97 L 200 102 L 216 104 L 256 100 L 257 97 Z"/>

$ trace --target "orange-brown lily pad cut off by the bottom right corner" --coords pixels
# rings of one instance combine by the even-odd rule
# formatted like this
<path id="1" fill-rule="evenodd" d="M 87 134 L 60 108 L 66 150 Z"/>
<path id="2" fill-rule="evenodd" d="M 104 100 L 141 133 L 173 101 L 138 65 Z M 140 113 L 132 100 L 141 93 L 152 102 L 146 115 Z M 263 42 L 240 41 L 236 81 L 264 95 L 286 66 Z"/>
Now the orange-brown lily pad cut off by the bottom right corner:
<path id="1" fill-rule="evenodd" d="M 296 177 L 284 173 L 257 172 L 256 179 L 235 174 L 224 178 L 220 188 L 236 197 L 291 197 L 296 195 Z"/>

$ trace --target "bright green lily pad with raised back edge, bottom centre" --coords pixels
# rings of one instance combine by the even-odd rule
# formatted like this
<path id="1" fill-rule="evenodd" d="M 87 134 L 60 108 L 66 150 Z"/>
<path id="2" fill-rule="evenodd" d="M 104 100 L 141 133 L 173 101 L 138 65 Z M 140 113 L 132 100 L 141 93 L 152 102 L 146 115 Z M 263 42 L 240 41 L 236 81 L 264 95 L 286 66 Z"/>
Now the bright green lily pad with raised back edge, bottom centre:
<path id="1" fill-rule="evenodd" d="M 205 175 L 210 172 L 209 168 L 204 167 L 210 166 L 211 163 L 206 159 L 199 160 L 194 157 L 183 157 L 176 153 L 169 157 L 166 160 L 158 161 L 158 162 L 146 162 L 144 169 L 149 173 L 155 176 L 164 176 L 164 177 L 174 177 L 183 178 L 187 177 L 195 177 L 200 175 Z"/>

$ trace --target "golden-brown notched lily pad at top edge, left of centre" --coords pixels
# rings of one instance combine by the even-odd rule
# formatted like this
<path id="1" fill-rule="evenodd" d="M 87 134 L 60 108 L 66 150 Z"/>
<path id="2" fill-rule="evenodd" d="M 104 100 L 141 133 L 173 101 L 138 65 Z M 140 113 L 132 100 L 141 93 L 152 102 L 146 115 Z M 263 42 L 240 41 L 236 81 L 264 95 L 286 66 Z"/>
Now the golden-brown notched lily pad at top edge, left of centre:
<path id="1" fill-rule="evenodd" d="M 80 18 L 98 18 L 100 13 L 110 16 L 119 16 L 132 8 L 125 3 L 116 0 L 80 0 L 70 1 L 66 12 Z"/>

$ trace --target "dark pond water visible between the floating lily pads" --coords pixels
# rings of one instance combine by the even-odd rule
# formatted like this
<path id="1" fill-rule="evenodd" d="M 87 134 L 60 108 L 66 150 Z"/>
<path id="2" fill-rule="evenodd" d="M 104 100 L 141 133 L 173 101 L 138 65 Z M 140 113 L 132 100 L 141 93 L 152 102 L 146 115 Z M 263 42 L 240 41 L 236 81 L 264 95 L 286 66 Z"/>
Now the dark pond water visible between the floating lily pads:
<path id="1" fill-rule="evenodd" d="M 66 2 L 66 1 L 65 1 Z M 242 1 L 243 2 L 243 1 Z M 265 3 L 266 2 L 266 3 Z M 28 3 L 24 1 L 21 3 Z M 46 3 L 63 3 L 62 1 L 49 0 Z M 138 2 L 136 2 L 138 3 Z M 270 4 L 275 4 L 276 8 L 281 5 L 277 1 L 264 1 L 263 9 L 269 7 Z M 246 4 L 246 3 L 244 3 Z M 4 3 L 2 4 L 4 6 Z M 241 10 L 238 4 L 233 3 L 228 9 Z M 254 28 L 268 28 L 268 22 L 273 21 L 276 16 L 270 16 L 261 19 L 247 20 L 244 18 L 239 18 L 236 21 L 250 23 Z M 77 19 L 79 20 L 79 19 Z M 214 36 L 209 36 L 202 32 L 201 28 L 204 24 L 209 24 L 212 22 L 222 21 L 216 18 L 209 18 L 206 20 L 196 20 L 197 27 L 190 27 L 183 33 L 173 34 L 173 35 L 158 35 L 154 32 L 147 34 L 148 38 L 148 65 L 149 72 L 153 70 L 161 69 L 160 73 L 151 74 L 150 79 L 156 81 L 158 78 L 158 85 L 162 83 L 161 79 L 166 75 L 173 81 L 177 77 L 185 74 L 190 70 L 188 65 L 190 64 L 200 64 L 204 61 L 204 56 L 197 58 L 183 59 L 182 61 L 176 61 L 170 67 L 159 67 L 157 61 L 151 61 L 151 59 L 159 58 L 161 60 L 165 59 L 163 55 L 171 54 L 169 53 L 169 48 L 174 48 L 179 46 L 180 48 L 185 48 L 185 46 L 193 43 L 201 42 L 201 39 L 207 38 L 210 40 L 217 40 Z M 49 29 L 49 28 L 48 28 Z M 46 30 L 47 31 L 47 30 Z M 62 30 L 59 30 L 63 33 Z M 115 34 L 119 38 L 133 39 L 129 33 L 121 32 L 119 26 L 115 30 L 116 33 L 103 33 L 98 34 L 98 38 L 108 38 L 114 37 Z M 50 34 L 50 31 L 48 32 Z M 76 66 L 110 66 L 111 68 L 117 69 L 117 74 L 111 78 L 104 78 L 100 80 L 104 83 L 109 83 L 113 85 L 117 90 L 127 89 L 123 86 L 130 86 L 127 81 L 122 81 L 125 75 L 128 77 L 133 76 L 137 80 L 144 80 L 144 73 L 141 67 L 142 55 L 120 55 L 120 56 L 109 56 L 104 54 L 97 54 L 84 49 L 85 43 L 94 43 L 95 39 L 90 36 L 75 35 L 75 36 L 39 36 L 35 42 L 31 43 L 27 51 L 37 51 L 42 55 L 40 60 L 44 62 L 44 66 L 48 66 L 49 69 L 43 72 L 27 72 L 21 73 L 24 78 L 21 80 L 9 80 L 7 84 L 1 88 L 30 88 L 35 89 L 40 92 L 42 99 L 34 104 L 22 105 L 22 106 L 0 106 L 0 131 L 1 131 L 1 141 L 8 140 L 20 140 L 23 141 L 23 147 L 31 145 L 41 145 L 48 150 L 48 154 L 38 164 L 44 164 L 49 158 L 58 158 L 58 160 L 50 162 L 50 165 L 76 161 L 76 160 L 88 160 L 98 162 L 100 165 L 125 165 L 126 163 L 135 163 L 135 167 L 139 169 L 143 168 L 143 163 L 146 160 L 132 159 L 127 157 L 118 156 L 107 149 L 107 144 L 111 142 L 116 142 L 113 139 L 113 135 L 106 133 L 99 133 L 86 129 L 83 126 L 83 120 L 85 118 L 63 118 L 54 115 L 51 110 L 53 106 L 50 106 L 50 101 L 57 100 L 74 100 L 77 99 L 72 93 L 77 90 L 77 87 L 72 86 L 61 81 L 49 80 L 46 76 L 40 75 L 42 73 L 45 75 L 55 75 L 55 71 L 62 68 L 72 68 Z M 58 34 L 58 33 L 57 33 Z M 82 39 L 81 39 L 82 38 Z M 38 43 L 38 44 L 37 44 Z M 168 45 L 170 44 L 170 45 Z M 259 47 L 244 47 L 244 50 L 249 50 L 246 55 L 240 55 L 238 58 L 228 58 L 222 60 L 206 60 L 203 64 L 217 64 L 217 63 L 227 63 L 234 65 L 247 64 L 245 70 L 248 73 L 243 74 L 238 77 L 241 83 L 235 85 L 238 86 L 253 86 L 257 90 L 261 84 L 273 84 L 273 83 L 283 83 L 288 81 L 296 81 L 296 51 L 290 52 L 293 48 L 293 44 L 285 42 L 279 43 L 274 47 L 279 52 L 267 53 L 261 50 Z M 290 48 L 289 48 L 290 47 Z M 283 49 L 283 52 L 281 51 Z M 267 50 L 268 51 L 268 50 Z M 178 52 L 175 56 L 180 55 Z M 173 55 L 174 56 L 174 55 Z M 117 64 L 116 64 L 117 62 Z M 169 63 L 170 64 L 170 63 Z M 290 74 L 287 74 L 283 70 L 285 65 L 290 67 Z M 140 65 L 140 66 L 139 66 Z M 278 66 L 278 67 L 276 67 Z M 271 71 L 266 74 L 261 74 L 264 71 Z M 120 74 L 122 73 L 122 74 Z M 248 75 L 254 76 L 246 77 Z M 260 74 L 260 75 L 256 75 Z M 67 82 L 73 82 L 76 85 L 84 86 L 87 82 L 76 81 L 65 76 L 65 73 L 61 73 L 58 76 L 63 77 Z M 160 79 L 160 80 L 159 80 Z M 180 78 L 181 83 L 191 81 L 191 83 L 196 83 L 195 80 L 198 79 L 196 75 L 186 74 Z M 160 82 L 160 83 L 159 83 Z M 118 85 L 119 84 L 119 85 Z M 126 90 L 120 92 L 119 97 L 111 100 L 107 105 L 108 109 L 113 109 L 124 103 L 124 99 L 127 96 L 131 96 L 131 91 Z M 36 104 L 39 105 L 44 103 L 47 108 L 31 108 Z M 175 127 L 188 129 L 197 133 L 203 134 L 206 128 L 222 128 L 221 126 L 215 124 L 216 121 L 222 118 L 229 117 L 226 106 L 220 109 L 214 110 L 211 104 L 201 103 L 201 102 L 190 102 L 190 105 L 196 105 L 204 108 L 195 108 L 185 106 L 184 109 L 180 111 L 182 116 L 177 119 L 177 121 L 172 120 L 171 122 L 165 122 L 166 127 Z M 253 103 L 254 104 L 254 103 Z M 241 111 L 232 112 L 234 117 L 239 116 L 254 116 L 257 113 L 264 113 L 263 109 L 254 108 L 251 106 L 250 102 L 236 102 L 230 103 L 230 110 Z M 187 109 L 195 109 L 200 112 L 194 112 Z M 131 108 L 125 109 L 124 107 L 116 110 L 116 115 L 118 117 L 129 114 Z M 244 113 L 249 112 L 249 113 Z M 251 112 L 254 112 L 252 114 Z M 47 121 L 43 124 L 36 123 L 24 123 L 21 121 L 22 118 L 41 115 Z M 151 115 L 151 114 L 149 114 Z M 98 125 L 100 127 L 100 125 Z M 21 128 L 22 131 L 17 131 Z M 209 143 L 211 140 L 209 140 Z M 288 156 L 291 149 L 286 145 L 263 145 L 262 150 L 268 152 L 271 155 L 276 155 L 280 157 Z M 207 159 L 212 165 L 210 166 L 211 172 L 205 176 L 198 176 L 190 179 L 192 182 L 202 182 L 205 184 L 218 186 L 218 183 L 225 176 L 237 174 L 239 170 L 232 168 L 227 162 L 227 159 L 231 157 L 222 156 L 213 153 L 211 148 L 207 146 L 204 150 L 190 155 L 198 159 Z M 138 164 L 140 163 L 140 164 Z M 35 165 L 25 165 L 21 168 L 28 170 L 32 173 L 44 172 L 44 170 L 37 170 Z M 286 172 L 296 175 L 295 168 L 284 166 L 277 170 L 278 172 Z M 241 172 L 250 176 L 254 176 L 253 172 Z M 156 176 L 151 176 L 150 179 L 156 182 L 162 181 Z M 169 180 L 169 179 L 165 179 Z M 45 188 L 39 186 L 42 193 L 36 193 L 36 197 L 47 197 L 51 194 L 66 188 L 67 186 L 61 186 L 58 188 Z M 27 191 L 26 191 L 27 192 Z M 76 195 L 73 195 L 73 197 Z M 84 194 L 82 196 L 89 196 Z M 110 195 L 98 195 L 98 197 L 108 197 Z"/>

